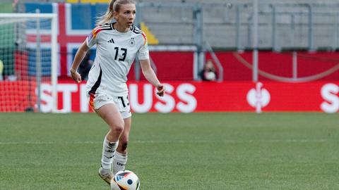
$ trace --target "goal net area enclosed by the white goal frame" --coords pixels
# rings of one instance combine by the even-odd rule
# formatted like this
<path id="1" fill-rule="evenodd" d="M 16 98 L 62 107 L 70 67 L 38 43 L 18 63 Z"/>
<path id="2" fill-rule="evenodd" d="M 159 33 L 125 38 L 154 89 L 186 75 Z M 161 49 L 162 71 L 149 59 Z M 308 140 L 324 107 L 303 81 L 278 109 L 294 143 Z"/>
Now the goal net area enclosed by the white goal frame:
<path id="1" fill-rule="evenodd" d="M 0 112 L 24 111 L 57 111 L 55 14 L 0 13 Z"/>

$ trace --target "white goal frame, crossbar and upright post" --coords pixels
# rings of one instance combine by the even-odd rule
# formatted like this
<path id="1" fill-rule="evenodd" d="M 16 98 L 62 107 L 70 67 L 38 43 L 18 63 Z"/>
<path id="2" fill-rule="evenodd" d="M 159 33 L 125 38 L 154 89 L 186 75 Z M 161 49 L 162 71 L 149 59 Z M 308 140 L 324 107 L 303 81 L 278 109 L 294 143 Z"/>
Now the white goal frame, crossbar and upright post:
<path id="1" fill-rule="evenodd" d="M 56 13 L 0 13 L 0 18 L 48 18 L 51 19 L 51 82 L 52 82 L 52 113 L 58 113 L 58 64 L 57 64 L 57 14 Z"/>

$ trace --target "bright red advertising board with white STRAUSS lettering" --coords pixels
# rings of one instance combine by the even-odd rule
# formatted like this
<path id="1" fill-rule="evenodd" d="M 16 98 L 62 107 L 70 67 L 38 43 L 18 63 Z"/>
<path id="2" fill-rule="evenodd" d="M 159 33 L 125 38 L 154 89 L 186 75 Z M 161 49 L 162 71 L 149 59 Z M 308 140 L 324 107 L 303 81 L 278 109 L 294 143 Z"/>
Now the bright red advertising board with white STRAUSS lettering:
<path id="1" fill-rule="evenodd" d="M 164 82 L 167 93 L 155 95 L 147 82 L 129 82 L 129 101 L 136 113 L 222 111 L 316 111 L 339 110 L 339 82 Z M 42 87 L 42 111 L 49 112 L 49 84 Z M 88 112 L 85 83 L 59 82 L 59 110 Z"/>

